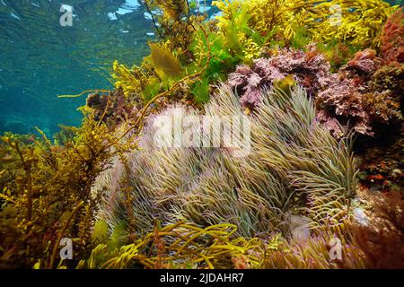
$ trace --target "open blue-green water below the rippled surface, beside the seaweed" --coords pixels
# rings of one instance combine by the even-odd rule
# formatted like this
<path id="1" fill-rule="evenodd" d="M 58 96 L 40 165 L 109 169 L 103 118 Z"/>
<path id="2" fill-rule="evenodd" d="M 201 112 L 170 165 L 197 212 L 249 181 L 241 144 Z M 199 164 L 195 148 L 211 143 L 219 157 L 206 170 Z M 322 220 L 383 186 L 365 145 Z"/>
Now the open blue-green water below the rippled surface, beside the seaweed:
<path id="1" fill-rule="evenodd" d="M 72 26 L 61 4 L 74 7 Z M 137 0 L 0 0 L 0 133 L 79 125 L 85 99 L 57 95 L 110 89 L 114 59 L 139 64 L 154 39 L 146 18 Z"/>

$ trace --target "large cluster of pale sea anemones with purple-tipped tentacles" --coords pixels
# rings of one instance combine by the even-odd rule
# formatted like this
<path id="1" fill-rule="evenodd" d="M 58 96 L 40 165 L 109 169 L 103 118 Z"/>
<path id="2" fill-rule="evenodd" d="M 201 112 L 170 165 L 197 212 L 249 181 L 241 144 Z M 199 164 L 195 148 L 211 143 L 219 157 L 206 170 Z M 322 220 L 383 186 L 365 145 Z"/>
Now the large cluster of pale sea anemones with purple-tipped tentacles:
<path id="1" fill-rule="evenodd" d="M 295 207 L 300 213 L 310 210 L 315 224 L 329 224 L 326 215 L 338 224 L 356 187 L 354 161 L 345 144 L 316 124 L 312 100 L 303 88 L 264 91 L 262 98 L 248 117 L 250 153 L 242 158 L 224 147 L 161 145 L 155 139 L 157 116 L 150 117 L 140 151 L 127 154 L 126 166 L 116 162 L 115 170 L 100 179 L 114 182 L 101 205 L 101 218 L 111 230 L 125 222 L 137 237 L 153 229 L 154 219 L 204 227 L 229 222 L 238 227 L 236 236 L 264 237 L 284 230 L 283 214 Z M 160 114 L 165 122 L 181 115 L 200 114 L 182 106 Z M 231 122 L 234 115 L 243 115 L 238 97 L 220 87 L 206 104 L 205 116 Z"/>

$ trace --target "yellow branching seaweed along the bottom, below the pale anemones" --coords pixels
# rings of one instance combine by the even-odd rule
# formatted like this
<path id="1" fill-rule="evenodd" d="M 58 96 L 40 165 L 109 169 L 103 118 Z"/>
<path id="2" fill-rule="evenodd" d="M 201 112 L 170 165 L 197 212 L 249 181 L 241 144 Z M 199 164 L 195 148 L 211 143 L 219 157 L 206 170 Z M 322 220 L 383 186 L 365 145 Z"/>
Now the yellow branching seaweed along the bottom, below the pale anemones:
<path id="1" fill-rule="evenodd" d="M 258 254 L 263 252 L 259 239 L 233 238 L 237 227 L 217 224 L 199 228 L 195 224 L 178 222 L 154 230 L 134 244 L 109 252 L 108 244 L 92 250 L 86 262 L 89 268 L 229 268 L 233 261 L 242 260 L 244 268 L 260 265 Z"/>

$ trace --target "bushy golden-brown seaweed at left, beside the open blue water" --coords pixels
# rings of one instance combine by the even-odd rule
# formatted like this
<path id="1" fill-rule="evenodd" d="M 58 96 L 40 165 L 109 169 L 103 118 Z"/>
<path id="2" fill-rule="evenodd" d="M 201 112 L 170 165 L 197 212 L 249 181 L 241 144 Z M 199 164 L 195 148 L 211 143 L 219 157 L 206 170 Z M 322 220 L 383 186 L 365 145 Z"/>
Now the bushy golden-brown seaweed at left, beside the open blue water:
<path id="1" fill-rule="evenodd" d="M 116 143 L 108 126 L 86 116 L 81 127 L 71 128 L 72 135 L 61 139 L 63 145 L 51 143 L 41 132 L 43 140 L 1 138 L 0 154 L 7 162 L 1 162 L 0 175 L 0 197 L 6 199 L 0 208 L 0 267 L 71 266 L 75 260 L 57 257 L 61 239 L 80 242 L 76 259 L 91 245 L 100 200 L 92 185 L 112 157 L 134 144 Z M 107 149 L 110 144 L 113 148 Z"/>

